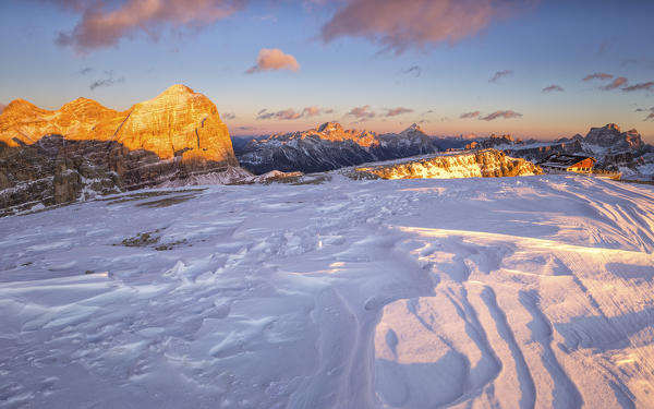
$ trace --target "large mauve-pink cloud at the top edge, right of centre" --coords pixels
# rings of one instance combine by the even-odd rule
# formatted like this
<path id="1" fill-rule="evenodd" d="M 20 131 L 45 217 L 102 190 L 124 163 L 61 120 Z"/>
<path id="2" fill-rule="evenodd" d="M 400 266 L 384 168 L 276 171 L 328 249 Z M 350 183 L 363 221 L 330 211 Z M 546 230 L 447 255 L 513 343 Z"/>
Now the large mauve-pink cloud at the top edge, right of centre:
<path id="1" fill-rule="evenodd" d="M 533 0 L 346 0 L 320 31 L 332 41 L 370 38 L 400 53 L 439 43 L 457 43 L 493 21 L 521 11 Z"/>

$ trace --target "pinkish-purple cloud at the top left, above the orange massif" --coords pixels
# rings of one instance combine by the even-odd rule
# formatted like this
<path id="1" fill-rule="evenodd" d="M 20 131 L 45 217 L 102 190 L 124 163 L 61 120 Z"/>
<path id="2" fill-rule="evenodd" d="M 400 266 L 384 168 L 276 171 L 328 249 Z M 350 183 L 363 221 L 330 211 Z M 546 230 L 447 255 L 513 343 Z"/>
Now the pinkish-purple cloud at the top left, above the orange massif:
<path id="1" fill-rule="evenodd" d="M 78 12 L 81 20 L 56 43 L 81 53 L 113 47 L 122 38 L 146 34 L 157 39 L 170 28 L 202 28 L 243 9 L 246 0 L 126 0 L 118 7 L 101 0 L 41 0 Z"/>

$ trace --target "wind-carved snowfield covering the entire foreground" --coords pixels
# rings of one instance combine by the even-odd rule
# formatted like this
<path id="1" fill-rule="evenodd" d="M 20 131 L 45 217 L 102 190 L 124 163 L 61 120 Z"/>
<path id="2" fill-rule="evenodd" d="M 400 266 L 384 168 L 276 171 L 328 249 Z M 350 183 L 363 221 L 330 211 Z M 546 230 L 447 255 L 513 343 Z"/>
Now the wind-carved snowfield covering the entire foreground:
<path id="1" fill-rule="evenodd" d="M 211 187 L 0 219 L 0 407 L 654 407 L 654 190 Z"/>

